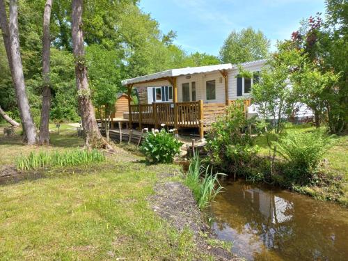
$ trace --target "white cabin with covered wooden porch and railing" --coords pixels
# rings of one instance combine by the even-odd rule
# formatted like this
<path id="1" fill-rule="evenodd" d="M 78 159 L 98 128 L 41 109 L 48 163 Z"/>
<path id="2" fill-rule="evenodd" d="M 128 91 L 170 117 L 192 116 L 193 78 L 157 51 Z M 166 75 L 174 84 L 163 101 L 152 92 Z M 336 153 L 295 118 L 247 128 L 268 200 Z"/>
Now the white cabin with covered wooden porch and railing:
<path id="1" fill-rule="evenodd" d="M 126 79 L 128 96 L 135 89 L 139 104 L 128 100 L 123 118 L 129 127 L 159 127 L 162 123 L 175 129 L 197 128 L 200 139 L 209 125 L 226 112 L 235 100 L 244 100 L 247 111 L 251 105 L 251 88 L 258 81 L 258 72 L 266 60 L 240 64 L 254 77 L 238 77 L 239 67 L 231 63 L 194 68 L 180 68 Z"/>

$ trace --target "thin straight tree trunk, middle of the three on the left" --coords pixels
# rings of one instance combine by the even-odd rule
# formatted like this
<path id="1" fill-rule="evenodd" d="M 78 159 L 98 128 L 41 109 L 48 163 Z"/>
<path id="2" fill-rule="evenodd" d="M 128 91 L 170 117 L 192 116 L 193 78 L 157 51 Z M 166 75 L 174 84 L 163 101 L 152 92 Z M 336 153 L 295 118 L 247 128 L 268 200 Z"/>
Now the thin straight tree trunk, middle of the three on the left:
<path id="1" fill-rule="evenodd" d="M 49 79 L 49 52 L 51 40 L 49 39 L 49 21 L 51 19 L 52 0 L 47 0 L 43 17 L 42 29 L 42 108 L 40 119 L 39 143 L 49 144 L 49 109 L 51 106 L 51 87 Z"/>

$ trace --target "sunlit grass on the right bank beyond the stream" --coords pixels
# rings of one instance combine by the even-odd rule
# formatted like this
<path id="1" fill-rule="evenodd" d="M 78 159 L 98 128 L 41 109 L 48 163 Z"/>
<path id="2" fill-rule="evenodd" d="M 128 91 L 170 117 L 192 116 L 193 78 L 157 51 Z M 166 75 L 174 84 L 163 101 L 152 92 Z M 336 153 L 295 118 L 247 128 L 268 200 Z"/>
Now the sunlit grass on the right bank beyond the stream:
<path id="1" fill-rule="evenodd" d="M 310 125 L 294 125 L 286 129 L 286 132 L 312 132 L 315 127 Z M 265 136 L 258 136 L 255 144 L 260 147 L 259 154 L 262 156 L 269 155 L 269 147 Z M 326 187 L 299 187 L 296 191 L 306 193 L 317 199 L 335 200 L 343 205 L 348 206 L 348 136 L 335 136 L 335 143 L 326 155 L 325 164 L 321 167 L 322 173 L 327 177 L 335 180 Z"/>

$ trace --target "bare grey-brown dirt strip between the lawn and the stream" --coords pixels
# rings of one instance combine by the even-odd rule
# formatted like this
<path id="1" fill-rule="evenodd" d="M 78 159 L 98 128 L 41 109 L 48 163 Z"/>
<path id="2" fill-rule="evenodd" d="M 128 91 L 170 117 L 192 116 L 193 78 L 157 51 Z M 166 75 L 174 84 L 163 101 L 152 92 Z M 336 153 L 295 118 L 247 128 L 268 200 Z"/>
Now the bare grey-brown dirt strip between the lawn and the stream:
<path id="1" fill-rule="evenodd" d="M 188 187 L 181 182 L 159 182 L 154 189 L 155 195 L 148 199 L 153 211 L 181 232 L 189 228 L 200 251 L 213 255 L 215 260 L 241 260 L 222 247 L 208 244 L 207 239 L 216 237 L 209 233 Z"/>

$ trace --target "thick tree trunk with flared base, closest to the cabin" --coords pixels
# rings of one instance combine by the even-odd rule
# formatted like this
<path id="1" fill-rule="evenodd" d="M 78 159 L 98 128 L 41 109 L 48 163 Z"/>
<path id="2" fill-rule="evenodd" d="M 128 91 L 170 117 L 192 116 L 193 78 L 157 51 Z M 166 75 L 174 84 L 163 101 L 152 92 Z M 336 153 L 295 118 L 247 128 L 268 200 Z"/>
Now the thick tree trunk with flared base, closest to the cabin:
<path id="1" fill-rule="evenodd" d="M 79 96 L 79 111 L 82 127 L 85 132 L 85 145 L 87 148 L 104 147 L 111 148 L 104 141 L 95 119 L 95 110 L 90 100 L 90 88 L 88 86 L 87 68 L 84 54 L 84 35 L 82 31 L 82 2 L 72 1 L 72 48 L 75 59 L 75 75 L 77 94 Z"/>

